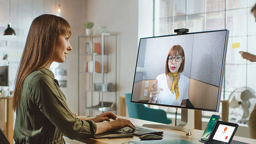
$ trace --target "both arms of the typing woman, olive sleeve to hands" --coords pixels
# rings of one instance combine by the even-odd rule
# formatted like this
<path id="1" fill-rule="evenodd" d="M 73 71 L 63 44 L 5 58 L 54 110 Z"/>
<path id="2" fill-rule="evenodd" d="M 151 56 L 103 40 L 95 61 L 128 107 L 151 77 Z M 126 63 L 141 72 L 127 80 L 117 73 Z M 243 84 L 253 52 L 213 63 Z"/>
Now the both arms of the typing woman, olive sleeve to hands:
<path id="1" fill-rule="evenodd" d="M 95 124 L 92 120 L 80 120 L 68 108 L 65 96 L 61 96 L 57 84 L 45 74 L 38 74 L 29 85 L 31 98 L 40 111 L 70 139 L 85 139 L 91 135 L 114 131 L 125 126 L 134 129 L 133 124 L 124 119 L 116 119 L 112 113 L 104 113 L 93 118 L 95 121 L 116 119 L 106 124 Z M 107 118 L 106 118 L 107 117 Z M 97 127 L 99 125 L 99 127 Z M 96 133 L 96 131 L 98 131 Z"/>

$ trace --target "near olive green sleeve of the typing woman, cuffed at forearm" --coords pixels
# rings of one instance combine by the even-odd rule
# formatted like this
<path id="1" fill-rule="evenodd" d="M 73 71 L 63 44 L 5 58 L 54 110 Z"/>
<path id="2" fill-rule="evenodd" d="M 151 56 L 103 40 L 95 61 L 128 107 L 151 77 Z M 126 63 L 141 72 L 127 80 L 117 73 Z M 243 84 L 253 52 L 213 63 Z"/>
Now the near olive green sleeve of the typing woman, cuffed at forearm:
<path id="1" fill-rule="evenodd" d="M 40 111 L 61 132 L 70 139 L 85 139 L 95 135 L 96 124 L 92 120 L 83 121 L 76 118 L 68 108 L 65 97 L 57 84 L 46 74 L 37 74 L 28 84 L 31 99 Z"/>

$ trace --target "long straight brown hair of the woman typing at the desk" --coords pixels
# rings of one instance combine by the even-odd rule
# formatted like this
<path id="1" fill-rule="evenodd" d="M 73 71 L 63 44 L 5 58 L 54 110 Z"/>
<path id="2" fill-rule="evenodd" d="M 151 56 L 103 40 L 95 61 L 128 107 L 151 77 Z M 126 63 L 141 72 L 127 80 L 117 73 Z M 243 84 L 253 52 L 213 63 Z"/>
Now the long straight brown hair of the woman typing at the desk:
<path id="1" fill-rule="evenodd" d="M 27 41 L 15 78 L 12 109 L 16 111 L 25 78 L 36 68 L 50 62 L 60 35 L 71 36 L 68 22 L 56 15 L 43 14 L 29 28 Z"/>

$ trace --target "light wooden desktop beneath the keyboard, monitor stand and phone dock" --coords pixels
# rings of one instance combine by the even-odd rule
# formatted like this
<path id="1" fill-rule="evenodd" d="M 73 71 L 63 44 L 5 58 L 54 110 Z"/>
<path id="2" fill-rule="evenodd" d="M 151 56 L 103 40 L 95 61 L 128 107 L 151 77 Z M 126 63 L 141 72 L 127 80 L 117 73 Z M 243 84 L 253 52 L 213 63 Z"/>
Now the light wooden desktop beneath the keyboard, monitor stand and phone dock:
<path id="1" fill-rule="evenodd" d="M 80 116 L 79 118 L 83 118 L 83 116 Z M 132 122 L 132 124 L 135 125 L 143 125 L 143 124 L 160 124 L 160 123 L 156 123 L 156 122 L 150 122 L 150 121 L 145 121 L 145 120 L 140 120 L 140 119 L 135 119 L 135 118 L 130 118 L 130 117 L 124 117 L 124 116 L 117 116 L 117 118 L 124 118 L 124 119 L 128 119 Z M 196 130 L 196 129 L 192 129 L 192 135 L 191 136 L 186 136 L 185 132 L 181 132 L 181 131 L 177 131 L 177 130 L 170 130 L 170 129 L 161 129 L 164 131 L 163 134 L 163 140 L 172 140 L 172 139 L 183 139 L 183 140 L 188 140 L 194 143 L 198 143 L 198 144 L 202 144 L 201 142 L 199 142 L 198 140 L 201 139 L 201 136 L 203 135 L 202 130 Z M 67 140 L 65 138 L 65 140 Z M 84 143 L 88 143 L 88 144 L 121 144 L 124 142 L 129 142 L 129 141 L 138 141 L 140 140 L 139 137 L 134 136 L 132 138 L 118 138 L 118 139 L 85 139 L 85 140 L 79 140 L 81 142 Z M 249 139 L 249 138 L 243 138 L 243 137 L 238 137 L 238 136 L 234 136 L 233 140 L 237 140 L 237 141 L 242 141 L 242 142 L 246 142 L 246 143 L 256 143 L 255 139 Z M 67 143 L 80 143 L 80 142 L 75 142 L 74 140 L 67 140 Z"/>

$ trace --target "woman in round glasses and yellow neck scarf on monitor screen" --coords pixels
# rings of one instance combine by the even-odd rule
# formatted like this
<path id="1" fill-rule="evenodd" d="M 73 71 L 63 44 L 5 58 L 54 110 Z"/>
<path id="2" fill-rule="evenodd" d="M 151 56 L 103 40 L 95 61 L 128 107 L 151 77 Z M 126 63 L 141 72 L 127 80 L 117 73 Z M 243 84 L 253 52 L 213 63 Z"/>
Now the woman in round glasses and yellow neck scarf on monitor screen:
<path id="1" fill-rule="evenodd" d="M 168 53 L 165 73 L 156 77 L 149 103 L 186 107 L 188 77 L 180 74 L 184 69 L 185 54 L 180 45 L 174 45 Z"/>

